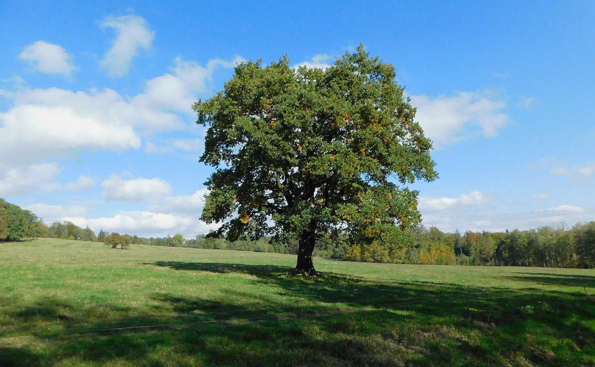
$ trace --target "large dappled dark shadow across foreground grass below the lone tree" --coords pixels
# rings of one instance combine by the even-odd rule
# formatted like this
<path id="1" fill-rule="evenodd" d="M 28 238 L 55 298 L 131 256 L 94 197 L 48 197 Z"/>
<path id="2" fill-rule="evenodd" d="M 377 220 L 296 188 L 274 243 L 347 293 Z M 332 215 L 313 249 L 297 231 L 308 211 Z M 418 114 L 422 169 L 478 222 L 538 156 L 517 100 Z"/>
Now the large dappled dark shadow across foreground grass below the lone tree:
<path id="1" fill-rule="evenodd" d="M 148 265 L 245 273 L 282 297 L 222 288 L 220 297 L 151 294 L 144 312 L 93 312 L 58 297 L 10 313 L 42 348 L 0 347 L 0 365 L 585 365 L 595 362 L 595 303 L 568 293 L 387 283 L 292 268 L 196 262 Z M 468 300 L 469 298 L 469 300 Z M 291 302 L 290 302 L 291 301 Z M 527 306 L 531 306 L 527 308 Z M 54 325 L 47 330 L 47 324 Z M 55 330 L 59 330 L 56 332 Z M 0 334 L 2 336 L 2 334 Z M 540 338 L 568 345 L 553 353 Z M 0 339 L 7 340 L 7 338 Z M 533 343 L 527 340 L 537 340 Z M 547 343 L 546 343 L 547 344 Z M 574 348 L 574 349 L 573 349 Z M 591 358 L 591 359 L 589 359 Z"/>

